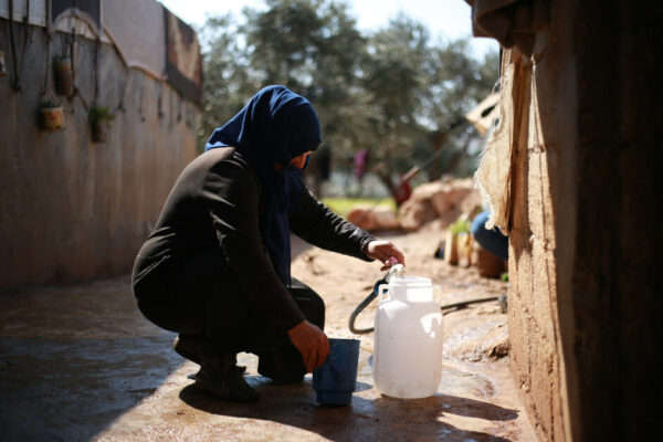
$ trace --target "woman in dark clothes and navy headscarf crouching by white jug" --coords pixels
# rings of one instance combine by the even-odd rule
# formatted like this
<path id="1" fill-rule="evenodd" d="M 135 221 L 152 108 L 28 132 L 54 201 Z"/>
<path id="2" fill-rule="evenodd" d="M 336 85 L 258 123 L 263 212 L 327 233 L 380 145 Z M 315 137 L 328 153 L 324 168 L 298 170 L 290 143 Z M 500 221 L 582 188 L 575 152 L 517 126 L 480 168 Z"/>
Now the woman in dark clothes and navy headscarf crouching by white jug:
<path id="1" fill-rule="evenodd" d="M 200 364 L 196 386 L 218 398 L 257 400 L 240 351 L 257 355 L 257 371 L 277 383 L 301 382 L 329 354 L 325 303 L 291 277 L 291 231 L 385 270 L 390 257 L 404 261 L 306 190 L 302 170 L 319 144 L 305 98 L 263 88 L 182 171 L 138 252 L 140 312 L 179 333 L 175 350 Z"/>

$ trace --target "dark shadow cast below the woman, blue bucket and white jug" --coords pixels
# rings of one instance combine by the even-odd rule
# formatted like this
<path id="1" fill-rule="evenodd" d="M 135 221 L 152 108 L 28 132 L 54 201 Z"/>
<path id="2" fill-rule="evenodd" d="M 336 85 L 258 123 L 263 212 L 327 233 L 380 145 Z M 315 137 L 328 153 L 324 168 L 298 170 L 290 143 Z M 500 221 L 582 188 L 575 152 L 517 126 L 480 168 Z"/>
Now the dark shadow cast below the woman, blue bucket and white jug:
<path id="1" fill-rule="evenodd" d="M 207 413 L 272 421 L 314 432 L 332 441 L 508 441 L 484 432 L 462 430 L 442 419 L 445 414 L 456 414 L 508 421 L 518 415 L 516 410 L 490 402 L 440 393 L 407 401 L 387 397 L 367 399 L 355 393 L 350 406 L 323 407 L 315 401 L 309 378 L 298 386 L 273 386 L 260 376 L 249 376 L 248 380 L 261 393 L 257 403 L 219 401 L 193 385 L 185 387 L 179 397 L 188 406 Z M 357 391 L 372 388 L 365 382 L 357 387 Z"/>

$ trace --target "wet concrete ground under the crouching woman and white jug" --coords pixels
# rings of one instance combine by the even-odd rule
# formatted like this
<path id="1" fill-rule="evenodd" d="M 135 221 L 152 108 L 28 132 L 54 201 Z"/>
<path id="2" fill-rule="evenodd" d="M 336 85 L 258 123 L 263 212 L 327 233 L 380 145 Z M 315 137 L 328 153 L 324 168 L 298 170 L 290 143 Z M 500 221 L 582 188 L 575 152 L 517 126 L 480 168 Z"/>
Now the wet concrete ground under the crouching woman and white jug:
<path id="1" fill-rule="evenodd" d="M 435 396 L 399 400 L 373 388 L 362 338 L 351 406 L 327 408 L 311 376 L 273 386 L 242 354 L 262 398 L 235 404 L 192 387 L 198 366 L 137 312 L 128 275 L 8 292 L 0 302 L 1 441 L 535 440 L 505 359 L 445 358 Z M 332 329 L 345 322 L 330 320 Z"/>

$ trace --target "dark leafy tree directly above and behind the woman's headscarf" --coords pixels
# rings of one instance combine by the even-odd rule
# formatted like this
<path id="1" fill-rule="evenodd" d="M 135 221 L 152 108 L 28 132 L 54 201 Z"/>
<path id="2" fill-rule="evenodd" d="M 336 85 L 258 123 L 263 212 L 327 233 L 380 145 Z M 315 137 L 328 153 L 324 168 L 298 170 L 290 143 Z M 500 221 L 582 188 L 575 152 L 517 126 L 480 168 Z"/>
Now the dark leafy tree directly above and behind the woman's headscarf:
<path id="1" fill-rule="evenodd" d="M 335 151 L 350 151 L 358 136 L 349 122 L 357 106 L 357 72 L 365 49 L 347 3 L 265 3 L 264 11 L 245 11 L 243 34 L 252 72 L 262 84 L 283 84 L 306 96 L 319 114 L 325 143 Z"/>

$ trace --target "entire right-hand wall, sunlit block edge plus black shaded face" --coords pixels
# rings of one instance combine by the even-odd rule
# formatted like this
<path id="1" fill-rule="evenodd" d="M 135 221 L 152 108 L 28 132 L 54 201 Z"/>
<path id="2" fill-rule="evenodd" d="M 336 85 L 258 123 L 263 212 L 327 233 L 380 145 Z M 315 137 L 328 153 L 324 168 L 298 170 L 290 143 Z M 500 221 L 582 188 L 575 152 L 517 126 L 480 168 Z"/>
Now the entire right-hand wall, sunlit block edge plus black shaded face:
<path id="1" fill-rule="evenodd" d="M 541 441 L 659 431 L 661 19 L 655 1 L 556 1 L 518 62 L 509 339 Z"/>

